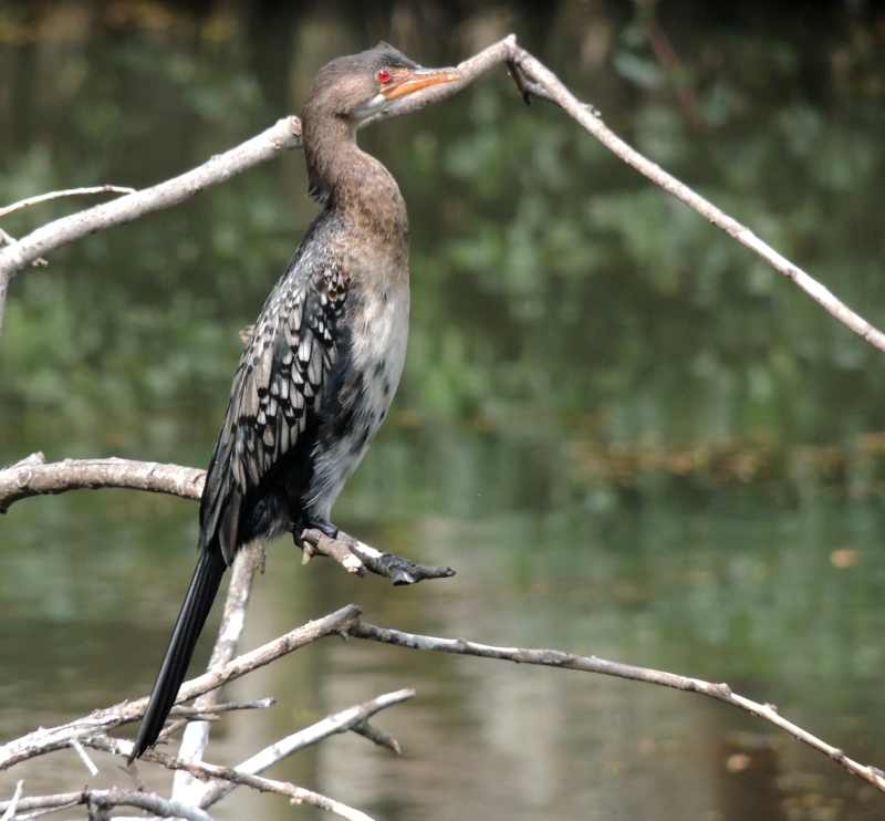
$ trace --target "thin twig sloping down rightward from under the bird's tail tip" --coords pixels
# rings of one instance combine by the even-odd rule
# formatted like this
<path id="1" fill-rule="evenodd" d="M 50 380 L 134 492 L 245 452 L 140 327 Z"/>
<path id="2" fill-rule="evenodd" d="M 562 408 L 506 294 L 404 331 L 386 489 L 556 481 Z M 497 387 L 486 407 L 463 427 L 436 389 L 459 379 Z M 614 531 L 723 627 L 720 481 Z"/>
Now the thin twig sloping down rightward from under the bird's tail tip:
<path id="1" fill-rule="evenodd" d="M 116 756 L 128 758 L 132 755 L 133 745 L 131 741 L 123 741 L 116 738 L 108 738 L 107 736 L 100 736 L 92 738 L 86 744 L 97 750 L 112 752 Z M 296 787 L 289 781 L 277 781 L 270 778 L 261 778 L 259 776 L 250 776 L 244 772 L 237 772 L 230 767 L 219 767 L 211 763 L 195 763 L 192 761 L 183 761 L 173 756 L 166 756 L 158 752 L 156 749 L 147 750 L 142 757 L 144 761 L 152 761 L 165 767 L 169 770 L 186 770 L 187 772 L 202 779 L 221 779 L 231 781 L 242 787 L 250 787 L 259 792 L 273 792 L 278 796 L 284 796 L 292 803 L 295 804 L 310 804 L 327 812 L 333 812 L 336 815 L 348 819 L 348 821 L 374 821 L 369 815 L 366 815 L 353 807 L 341 803 L 333 798 L 323 796 L 313 790 L 306 790 L 303 787 Z M 204 812 L 204 810 L 200 810 Z"/>

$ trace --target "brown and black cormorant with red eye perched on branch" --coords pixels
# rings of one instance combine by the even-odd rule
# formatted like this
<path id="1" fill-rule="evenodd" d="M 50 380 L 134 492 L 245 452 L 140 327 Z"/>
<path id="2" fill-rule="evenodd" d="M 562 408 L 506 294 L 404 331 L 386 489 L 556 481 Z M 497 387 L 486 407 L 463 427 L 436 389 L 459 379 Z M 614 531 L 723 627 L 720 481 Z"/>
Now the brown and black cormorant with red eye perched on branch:
<path id="1" fill-rule="evenodd" d="M 357 129 L 460 79 L 385 42 L 332 60 L 302 112 L 308 189 L 322 209 L 268 295 L 233 375 L 206 474 L 194 569 L 129 761 L 156 744 L 225 571 L 254 540 L 319 529 L 387 415 L 406 356 L 408 217 Z"/>

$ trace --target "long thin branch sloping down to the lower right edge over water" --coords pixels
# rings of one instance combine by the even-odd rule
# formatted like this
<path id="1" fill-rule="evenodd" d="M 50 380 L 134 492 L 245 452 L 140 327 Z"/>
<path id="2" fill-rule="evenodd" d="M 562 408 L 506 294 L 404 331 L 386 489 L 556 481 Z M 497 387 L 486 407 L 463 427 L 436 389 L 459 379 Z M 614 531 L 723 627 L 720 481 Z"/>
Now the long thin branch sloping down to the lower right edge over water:
<path id="1" fill-rule="evenodd" d="M 529 649 L 524 647 L 497 647 L 491 644 L 479 644 L 465 638 L 438 638 L 436 636 L 405 633 L 400 630 L 378 627 L 375 624 L 358 621 L 353 624 L 347 634 L 356 638 L 367 638 L 382 644 L 395 644 L 410 649 L 434 651 L 437 653 L 458 653 L 461 655 L 479 656 L 481 658 L 497 658 L 517 664 L 538 664 L 546 667 L 597 673 L 604 676 L 627 678 L 632 682 L 656 684 L 662 687 L 688 693 L 700 693 L 718 702 L 723 702 L 732 707 L 738 707 L 762 718 L 775 727 L 789 732 L 793 738 L 803 741 L 812 749 L 822 752 L 836 763 L 842 765 L 848 772 L 864 781 L 868 781 L 881 792 L 885 792 L 885 772 L 876 767 L 860 763 L 848 758 L 841 749 L 833 747 L 818 738 L 796 724 L 787 720 L 778 713 L 773 704 L 761 704 L 731 690 L 727 684 L 711 684 L 701 678 L 689 678 L 666 671 L 650 667 L 637 667 L 632 664 L 608 662 L 597 656 L 580 656 L 574 653 L 563 653 L 559 649 Z"/>

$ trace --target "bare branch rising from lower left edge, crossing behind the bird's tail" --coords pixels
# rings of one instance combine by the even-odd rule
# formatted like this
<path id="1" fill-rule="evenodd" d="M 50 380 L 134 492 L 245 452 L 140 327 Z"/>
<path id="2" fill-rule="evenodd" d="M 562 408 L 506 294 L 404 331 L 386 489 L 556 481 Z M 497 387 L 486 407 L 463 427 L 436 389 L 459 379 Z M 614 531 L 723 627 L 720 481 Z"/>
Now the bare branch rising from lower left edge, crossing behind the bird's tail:
<path id="1" fill-rule="evenodd" d="M 177 702 L 187 702 L 210 689 L 220 687 L 235 678 L 240 678 L 258 667 L 270 664 L 323 636 L 337 634 L 346 630 L 360 615 L 360 609 L 350 604 L 321 619 L 295 627 L 260 647 L 238 656 L 221 669 L 205 673 L 181 685 Z M 27 736 L 17 738 L 0 746 L 0 771 L 35 756 L 62 749 L 76 738 L 84 741 L 96 732 L 104 732 L 114 727 L 142 718 L 147 708 L 147 698 L 95 710 L 84 718 L 79 718 L 58 727 L 40 728 Z"/>

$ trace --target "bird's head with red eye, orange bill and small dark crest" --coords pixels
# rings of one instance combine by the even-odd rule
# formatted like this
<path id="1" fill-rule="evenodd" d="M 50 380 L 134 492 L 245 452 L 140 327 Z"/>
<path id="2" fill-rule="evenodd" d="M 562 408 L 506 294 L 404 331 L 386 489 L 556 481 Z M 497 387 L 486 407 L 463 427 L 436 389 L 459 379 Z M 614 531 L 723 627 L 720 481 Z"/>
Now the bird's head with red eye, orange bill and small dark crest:
<path id="1" fill-rule="evenodd" d="M 457 69 L 425 69 L 388 43 L 337 58 L 316 74 L 304 114 L 334 115 L 355 127 L 416 91 L 460 79 Z"/>

